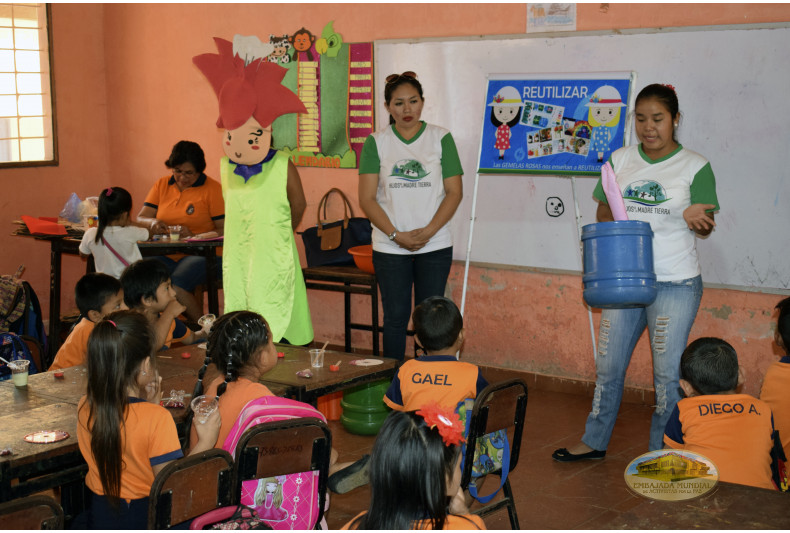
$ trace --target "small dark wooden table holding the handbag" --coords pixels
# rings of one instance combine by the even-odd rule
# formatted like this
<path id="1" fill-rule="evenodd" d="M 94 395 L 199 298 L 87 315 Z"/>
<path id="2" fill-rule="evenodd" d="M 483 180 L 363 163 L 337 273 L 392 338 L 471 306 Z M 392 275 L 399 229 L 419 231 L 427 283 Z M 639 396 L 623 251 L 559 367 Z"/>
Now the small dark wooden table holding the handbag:
<path id="1" fill-rule="evenodd" d="M 351 330 L 359 329 L 373 333 L 373 354 L 379 355 L 379 289 L 375 274 L 352 266 L 309 267 L 303 268 L 302 274 L 308 289 L 343 293 L 345 351 L 351 351 Z M 370 324 L 351 322 L 352 294 L 370 296 Z"/>

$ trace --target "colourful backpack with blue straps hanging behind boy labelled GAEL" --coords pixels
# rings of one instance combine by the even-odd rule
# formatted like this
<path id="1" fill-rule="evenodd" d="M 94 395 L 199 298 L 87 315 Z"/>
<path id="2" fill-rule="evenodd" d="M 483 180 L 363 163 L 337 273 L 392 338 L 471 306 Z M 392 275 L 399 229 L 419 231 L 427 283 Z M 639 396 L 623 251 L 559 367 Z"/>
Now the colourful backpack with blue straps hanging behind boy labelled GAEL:
<path id="1" fill-rule="evenodd" d="M 466 461 L 466 441 L 469 439 L 469 429 L 472 421 L 472 407 L 474 400 L 464 400 L 459 402 L 457 407 L 458 416 L 464 424 L 464 444 L 461 448 L 461 471 L 463 472 L 464 463 Z M 486 496 L 481 496 L 477 493 L 477 486 L 475 480 L 485 475 L 498 472 L 499 486 Z M 507 431 L 498 429 L 492 431 L 481 438 L 478 438 L 475 443 L 475 455 L 472 462 L 472 481 L 469 483 L 469 494 L 482 504 L 490 502 L 494 496 L 505 485 L 508 472 L 510 472 L 510 441 L 507 438 Z"/>

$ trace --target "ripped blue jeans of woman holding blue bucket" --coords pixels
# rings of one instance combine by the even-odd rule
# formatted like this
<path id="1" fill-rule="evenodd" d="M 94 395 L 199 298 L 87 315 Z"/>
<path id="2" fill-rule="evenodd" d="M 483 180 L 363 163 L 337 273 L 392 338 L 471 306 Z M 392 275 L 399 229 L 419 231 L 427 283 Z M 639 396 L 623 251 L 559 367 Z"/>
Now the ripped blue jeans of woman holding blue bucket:
<path id="1" fill-rule="evenodd" d="M 584 427 L 584 442 L 605 450 L 612 436 L 625 373 L 636 342 L 647 326 L 653 353 L 656 406 L 650 425 L 650 450 L 663 447 L 664 427 L 680 399 L 680 356 L 702 298 L 702 278 L 658 283 L 656 301 L 634 309 L 604 309 L 598 332 L 596 382 L 592 411 Z"/>

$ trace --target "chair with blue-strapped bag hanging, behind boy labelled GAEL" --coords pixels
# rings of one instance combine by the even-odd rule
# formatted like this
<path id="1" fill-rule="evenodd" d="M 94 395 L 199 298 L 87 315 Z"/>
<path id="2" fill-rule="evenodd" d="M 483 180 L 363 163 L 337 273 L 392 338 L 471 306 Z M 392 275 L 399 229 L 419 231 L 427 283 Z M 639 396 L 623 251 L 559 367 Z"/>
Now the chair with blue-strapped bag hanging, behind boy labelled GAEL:
<path id="1" fill-rule="evenodd" d="M 504 429 L 510 442 L 510 468 L 508 474 L 515 470 L 521 450 L 521 438 L 524 433 L 524 415 L 527 411 L 527 384 L 521 379 L 511 379 L 500 383 L 492 383 L 483 389 L 475 399 L 472 408 L 469 436 L 464 458 L 464 471 L 461 486 L 466 489 L 472 479 L 472 463 L 474 462 L 477 439 L 483 435 Z M 489 475 L 502 476 L 501 470 Z M 503 498 L 484 505 L 473 511 L 481 518 L 502 507 L 507 507 L 512 529 L 519 529 L 516 503 L 510 488 L 510 479 L 502 486 Z"/>

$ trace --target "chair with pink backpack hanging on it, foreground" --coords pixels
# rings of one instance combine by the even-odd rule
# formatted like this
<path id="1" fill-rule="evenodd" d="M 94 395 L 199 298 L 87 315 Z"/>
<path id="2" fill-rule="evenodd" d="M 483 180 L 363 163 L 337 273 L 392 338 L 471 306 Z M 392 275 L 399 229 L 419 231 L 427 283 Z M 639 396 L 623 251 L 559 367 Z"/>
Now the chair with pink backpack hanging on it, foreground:
<path id="1" fill-rule="evenodd" d="M 236 446 L 235 494 L 241 494 L 242 482 L 247 480 L 318 471 L 318 515 L 312 525 L 318 529 L 326 505 L 331 452 L 332 433 L 317 418 L 254 426 L 244 432 Z"/>

